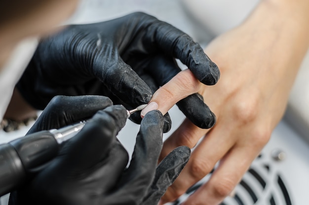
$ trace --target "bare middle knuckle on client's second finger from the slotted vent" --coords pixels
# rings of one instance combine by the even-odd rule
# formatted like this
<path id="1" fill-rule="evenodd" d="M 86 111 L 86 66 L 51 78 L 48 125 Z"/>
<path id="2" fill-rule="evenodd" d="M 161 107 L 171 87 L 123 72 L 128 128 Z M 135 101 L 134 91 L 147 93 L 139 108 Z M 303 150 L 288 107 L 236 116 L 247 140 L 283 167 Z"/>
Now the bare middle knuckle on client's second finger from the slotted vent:
<path id="1" fill-rule="evenodd" d="M 191 175 L 193 179 L 200 180 L 206 174 L 208 174 L 214 165 L 207 160 L 202 160 L 200 158 L 192 158 L 190 169 L 191 169 Z"/>

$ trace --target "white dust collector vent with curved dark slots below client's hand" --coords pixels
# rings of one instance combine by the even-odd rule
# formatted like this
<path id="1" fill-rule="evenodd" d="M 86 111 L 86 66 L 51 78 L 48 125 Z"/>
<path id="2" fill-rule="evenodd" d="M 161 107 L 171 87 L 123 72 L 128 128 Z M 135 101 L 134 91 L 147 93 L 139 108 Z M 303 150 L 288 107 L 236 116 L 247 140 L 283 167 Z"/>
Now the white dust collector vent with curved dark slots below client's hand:
<path id="1" fill-rule="evenodd" d="M 259 155 L 236 186 L 233 196 L 227 197 L 221 205 L 293 205 L 282 175 L 272 169 L 269 162 L 263 160 L 262 154 Z M 205 183 L 210 175 L 193 185 L 172 205 L 181 204 Z"/>

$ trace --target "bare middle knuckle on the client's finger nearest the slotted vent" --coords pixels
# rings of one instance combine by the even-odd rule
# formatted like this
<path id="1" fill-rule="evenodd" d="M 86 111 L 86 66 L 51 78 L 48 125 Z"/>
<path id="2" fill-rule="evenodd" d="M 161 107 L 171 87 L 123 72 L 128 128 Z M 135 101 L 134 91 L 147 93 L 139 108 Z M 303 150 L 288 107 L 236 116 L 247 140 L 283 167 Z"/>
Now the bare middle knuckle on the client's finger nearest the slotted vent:
<path id="1" fill-rule="evenodd" d="M 220 180 L 216 180 L 212 185 L 214 196 L 219 198 L 225 198 L 228 196 L 234 187 L 235 184 L 228 178 L 220 178 Z"/>

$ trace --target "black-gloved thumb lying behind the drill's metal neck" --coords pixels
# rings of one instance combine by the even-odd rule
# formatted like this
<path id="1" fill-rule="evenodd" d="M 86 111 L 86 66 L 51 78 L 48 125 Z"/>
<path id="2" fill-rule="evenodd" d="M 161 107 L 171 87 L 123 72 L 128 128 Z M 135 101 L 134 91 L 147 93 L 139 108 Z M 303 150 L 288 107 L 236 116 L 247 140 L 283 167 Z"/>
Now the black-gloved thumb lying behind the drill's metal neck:
<path id="1" fill-rule="evenodd" d="M 58 129 L 89 119 L 98 110 L 112 104 L 113 102 L 104 96 L 56 96 L 47 104 L 28 134 Z"/>

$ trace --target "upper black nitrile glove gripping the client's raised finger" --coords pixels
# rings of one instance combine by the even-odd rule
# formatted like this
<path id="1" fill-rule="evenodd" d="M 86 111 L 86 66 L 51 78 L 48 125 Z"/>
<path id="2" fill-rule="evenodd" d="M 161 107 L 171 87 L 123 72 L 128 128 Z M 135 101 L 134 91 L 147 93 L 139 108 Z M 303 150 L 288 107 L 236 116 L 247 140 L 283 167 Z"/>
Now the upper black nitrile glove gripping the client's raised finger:
<path id="1" fill-rule="evenodd" d="M 131 109 L 148 103 L 153 92 L 180 71 L 175 58 L 202 83 L 218 81 L 218 67 L 188 35 L 153 16 L 133 13 L 71 25 L 42 40 L 17 88 L 38 109 L 56 95 L 104 95 Z M 193 96 L 178 106 L 195 125 L 211 127 L 215 115 Z M 139 113 L 132 118 L 141 120 Z"/>

